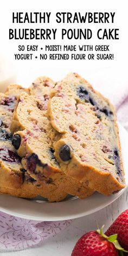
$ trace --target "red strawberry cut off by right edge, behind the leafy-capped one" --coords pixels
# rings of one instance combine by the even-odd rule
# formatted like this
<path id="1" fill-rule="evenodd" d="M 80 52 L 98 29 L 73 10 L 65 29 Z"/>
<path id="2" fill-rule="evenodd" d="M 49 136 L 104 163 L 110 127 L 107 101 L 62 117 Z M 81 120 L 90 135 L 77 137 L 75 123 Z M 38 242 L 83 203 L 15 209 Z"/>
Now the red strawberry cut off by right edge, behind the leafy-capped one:
<path id="1" fill-rule="evenodd" d="M 105 234 L 117 234 L 119 244 L 128 250 L 128 209 L 118 216 Z"/>

